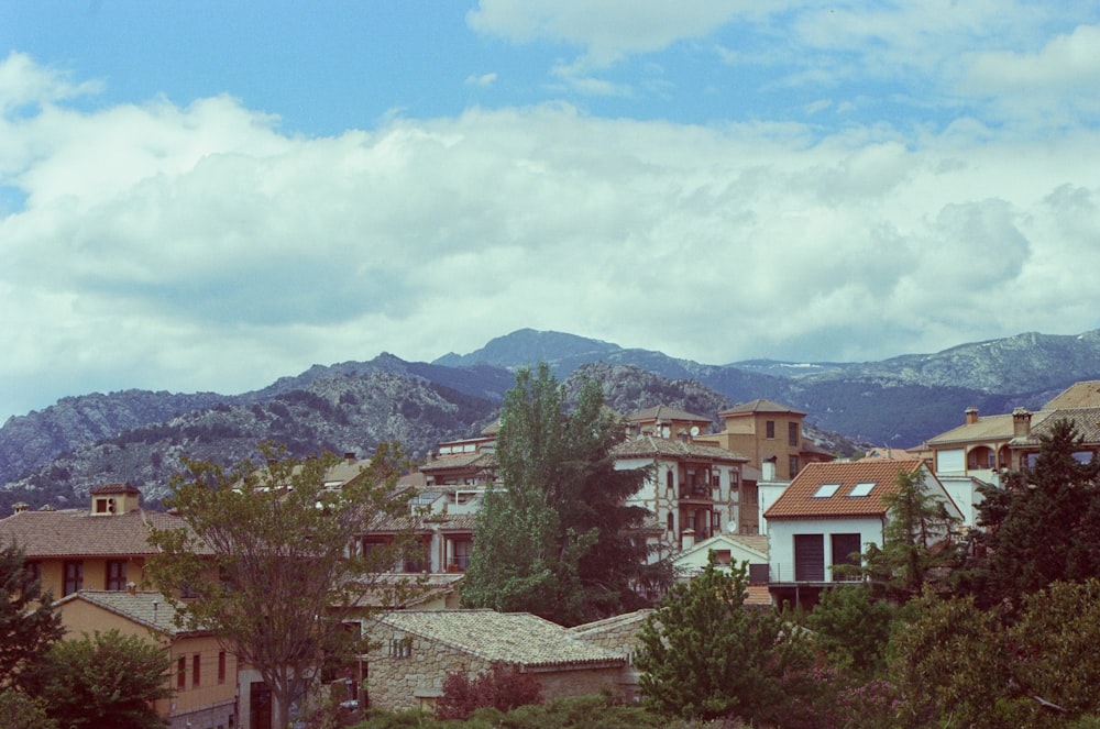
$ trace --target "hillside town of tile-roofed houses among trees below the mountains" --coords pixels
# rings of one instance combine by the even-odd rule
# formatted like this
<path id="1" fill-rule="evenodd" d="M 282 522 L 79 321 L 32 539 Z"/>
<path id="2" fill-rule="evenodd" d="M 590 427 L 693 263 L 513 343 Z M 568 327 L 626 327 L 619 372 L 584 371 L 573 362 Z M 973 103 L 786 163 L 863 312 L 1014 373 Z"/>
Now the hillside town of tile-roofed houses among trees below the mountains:
<path id="1" fill-rule="evenodd" d="M 349 717 L 363 717 L 367 707 L 422 709 L 442 716 L 446 707 L 453 706 L 449 686 L 453 688 L 459 680 L 487 681 L 502 666 L 536 680 L 534 695 L 539 700 L 603 692 L 617 703 L 660 706 L 653 700 L 664 695 L 657 662 L 661 641 L 669 640 L 660 633 L 661 620 L 673 619 L 675 609 L 670 606 L 678 600 L 697 599 L 689 597 L 691 586 L 711 584 L 716 574 L 734 581 L 738 612 L 785 616 L 788 621 L 802 616 L 809 632 L 815 626 L 824 630 L 814 616 L 835 609 L 831 600 L 839 598 L 833 596 L 845 590 L 856 589 L 866 596 L 859 599 L 894 607 L 969 595 L 970 609 L 977 609 L 975 596 L 978 603 L 997 596 L 1016 600 L 1014 609 L 1026 617 L 1020 600 L 1027 593 L 1046 589 L 1056 579 L 1080 582 L 1094 575 L 1091 562 L 1079 564 L 1076 571 L 1063 565 L 1060 571 L 1048 572 L 1048 581 L 1032 581 L 1026 589 L 1014 593 L 1000 583 L 983 583 L 977 589 L 959 586 L 981 574 L 975 564 L 985 564 L 991 554 L 1008 555 L 1009 550 L 990 538 L 990 520 L 1000 513 L 999 533 L 1008 533 L 1010 527 L 1019 529 L 1003 511 L 1011 511 L 1009 498 L 1020 484 L 1026 496 L 1035 490 L 1036 478 L 1058 467 L 1049 463 L 1054 444 L 1068 442 L 1068 453 L 1059 457 L 1068 460 L 1069 466 L 1084 470 L 1092 464 L 1091 471 L 1081 471 L 1087 484 L 1080 486 L 1097 487 L 1100 382 L 1076 383 L 1035 412 L 1018 408 L 985 415 L 969 408 L 960 413 L 958 427 L 912 449 L 880 448 L 853 459 L 838 459 L 805 439 L 807 413 L 771 400 L 756 399 L 721 412 L 723 427 L 715 429 L 706 416 L 662 405 L 630 413 L 609 412 L 601 407 L 598 386 L 593 389 L 590 400 L 582 397 L 576 409 L 566 412 L 560 389 L 544 367 L 536 374 L 524 371 L 513 390 L 516 397 L 510 406 L 506 399 L 501 420 L 476 438 L 439 443 L 419 464 L 405 463 L 396 450 L 387 449 L 370 459 L 345 453 L 307 461 L 280 459 L 273 452 L 265 466 L 250 464 L 252 471 L 223 473 L 197 466 L 191 483 L 177 483 L 179 498 L 167 511 L 145 509 L 141 489 L 129 483 L 92 488 L 82 508 L 31 510 L 18 504 L 14 513 L 0 520 L 0 544 L 8 548 L 9 556 L 18 556 L 19 584 L 30 598 L 19 605 L 25 615 L 34 615 L 42 605 L 37 597 L 50 594 L 54 601 L 45 605 L 56 611 L 66 638 L 117 631 L 147 641 L 162 655 L 167 676 L 158 678 L 161 691 L 148 706 L 173 729 L 271 729 L 288 720 L 320 726 L 310 721 L 326 706 Z M 504 596 L 502 575 L 521 568 L 516 567 L 516 560 L 528 549 L 521 542 L 537 543 L 538 530 L 507 531 L 516 541 L 510 549 L 507 544 L 502 549 L 494 541 L 499 538 L 486 526 L 490 513 L 509 519 L 519 513 L 508 509 L 518 508 L 513 501 L 528 486 L 521 488 L 518 482 L 528 475 L 516 471 L 517 445 L 508 439 L 531 435 L 535 426 L 526 420 L 522 427 L 517 423 L 525 412 L 535 412 L 536 406 L 549 408 L 551 430 L 566 433 L 558 440 L 546 439 L 548 451 L 549 443 L 559 441 L 565 450 L 548 453 L 547 464 L 539 464 L 559 474 L 556 487 L 571 478 L 560 475 L 560 461 L 578 457 L 566 452 L 576 440 L 569 433 L 585 429 L 598 438 L 578 437 L 578 442 L 595 449 L 588 453 L 593 463 L 603 461 L 612 470 L 597 473 L 600 483 L 623 479 L 618 491 L 607 491 L 623 497 L 600 507 L 608 513 L 622 510 L 623 520 L 614 528 L 625 537 L 619 534 L 624 541 L 613 546 L 626 551 L 618 553 L 617 572 L 608 573 L 618 575 L 622 584 L 597 597 L 586 593 L 587 601 L 575 609 L 566 609 L 560 598 L 574 584 L 568 579 L 546 589 L 540 586 L 529 595 L 520 590 Z M 597 424 L 606 430 L 598 430 Z M 534 467 L 542 454 L 534 453 L 531 443 L 521 448 L 520 466 Z M 516 483 L 509 483 L 505 474 Z M 218 490 L 218 484 L 227 488 Z M 197 490 L 188 490 L 196 485 Z M 229 500 L 219 501 L 210 494 Z M 1009 496 L 1001 499 L 998 494 Z M 224 507 L 239 505 L 242 498 L 240 510 Z M 592 497 L 566 494 L 562 498 Z M 990 508 L 990 498 L 1001 499 L 1002 512 Z M 566 513 L 564 507 L 558 508 L 560 504 L 549 502 L 560 515 Z M 592 504 L 603 501 L 592 499 Z M 206 513 L 212 506 L 220 511 Z M 277 554 L 276 566 L 268 572 L 256 568 L 251 577 L 228 579 L 227 570 L 232 567 L 227 565 L 232 563 L 227 560 L 250 549 L 263 552 L 277 545 L 276 533 L 253 526 L 252 520 L 260 524 L 268 510 L 290 513 L 287 523 L 292 524 L 306 519 L 302 523 L 309 524 L 310 534 L 323 532 L 330 541 L 317 537 L 315 544 L 299 545 L 300 551 Z M 1082 529 L 1100 526 L 1088 513 L 1076 516 Z M 584 523 L 616 522 L 608 517 L 604 522 L 595 518 Z M 234 530 L 242 524 L 255 530 L 263 543 L 245 544 L 243 532 Z M 900 526 L 905 529 L 899 530 Z M 195 539 L 173 541 L 177 534 Z M 556 553 L 559 560 L 566 561 L 574 545 L 581 552 L 598 552 L 594 545 L 602 543 L 602 534 L 587 542 L 575 537 L 571 530 L 565 542 L 556 542 L 566 544 Z M 1054 535 L 1048 537 L 1038 538 L 1047 542 L 1047 553 L 1036 555 L 1047 562 L 1060 554 Z M 1096 559 L 1100 542 L 1087 531 L 1078 537 L 1079 551 Z M 553 538 L 550 534 L 551 542 Z M 332 543 L 341 544 L 336 553 L 321 553 Z M 479 553 L 479 545 L 484 544 L 494 546 L 492 554 L 487 548 Z M 637 563 L 624 565 L 622 555 L 630 549 L 636 550 Z M 888 559 L 899 550 L 902 557 Z M 166 566 L 169 556 L 180 559 L 173 563 L 176 566 Z M 546 560 L 547 555 L 539 556 Z M 576 584 L 584 582 L 585 568 L 591 570 L 579 564 L 573 563 L 573 571 L 581 575 Z M 994 567 L 1004 570 L 1003 564 Z M 550 565 L 554 575 L 556 568 Z M 233 596 L 255 599 L 243 584 L 249 578 L 265 590 L 270 606 L 232 603 Z M 605 575 L 604 582 L 613 578 Z M 221 584 L 223 589 L 210 584 Z M 165 585 L 175 589 L 158 592 Z M 312 601 L 301 603 L 302 596 Z M 246 641 L 241 642 L 241 637 L 255 626 L 227 628 L 227 615 L 234 610 L 263 614 L 268 627 L 279 625 L 280 630 L 294 632 L 300 626 L 280 622 L 284 616 L 275 605 L 280 599 L 294 603 L 295 609 L 307 604 L 324 614 L 322 622 L 336 625 L 340 634 L 354 636 L 349 644 L 355 649 L 341 653 L 323 641 L 307 642 L 309 650 L 292 651 L 280 666 L 270 665 L 277 653 L 264 653 L 254 645 L 242 650 Z M 859 627 L 871 630 L 866 616 L 848 629 Z M 658 636 L 656 644 L 653 636 Z M 832 638 L 845 640 L 843 634 Z M 811 644 L 818 658 L 816 664 L 805 664 L 804 671 L 811 665 L 821 670 L 837 654 L 851 661 L 849 653 L 831 652 L 826 640 Z M 883 645 L 873 650 L 882 651 Z M 686 658 L 701 662 L 706 655 L 702 651 Z M 858 658 L 871 661 L 872 656 Z M 1022 663 L 1013 670 L 1024 671 Z M 6 667 L 6 684 L 18 685 L 19 663 Z M 690 682 L 681 673 L 670 680 Z M 873 672 L 859 675 L 878 677 Z M 278 683 L 273 676 L 286 680 L 285 685 L 273 685 Z M 1093 714 L 1100 698 L 1093 688 L 1067 706 L 1067 697 L 1049 689 L 1034 696 L 1027 691 L 1040 688 L 1030 685 L 1005 696 L 1018 702 L 1012 716 L 1031 722 L 1019 726 L 1067 726 L 1058 722 L 1067 716 Z M 752 716 L 739 714 L 735 707 L 745 711 L 752 702 L 733 698 L 737 700 L 724 705 L 728 716 L 761 726 L 770 726 L 769 716 L 777 720 L 767 709 Z M 904 697 L 891 700 L 905 704 Z M 662 708 L 672 716 L 682 709 L 668 704 Z M 943 711 L 964 713 L 949 704 L 920 708 L 931 711 L 923 717 L 927 720 Z M 696 707 L 682 715 L 715 718 L 725 716 L 726 709 L 707 713 Z M 774 726 L 803 726 L 791 718 L 795 715 Z M 915 714 L 910 718 L 913 724 L 906 726 L 921 726 Z M 813 726 L 877 726 L 865 719 L 866 724 L 836 719 Z M 890 721 L 899 720 L 897 714 L 891 715 L 883 726 L 895 726 Z"/>

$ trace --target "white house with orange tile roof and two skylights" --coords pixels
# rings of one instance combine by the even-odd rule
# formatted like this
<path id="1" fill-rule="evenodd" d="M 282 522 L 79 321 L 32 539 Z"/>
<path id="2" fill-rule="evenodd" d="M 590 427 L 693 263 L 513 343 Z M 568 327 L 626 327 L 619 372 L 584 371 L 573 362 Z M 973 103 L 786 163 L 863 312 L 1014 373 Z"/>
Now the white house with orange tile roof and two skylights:
<path id="1" fill-rule="evenodd" d="M 859 565 L 868 544 L 883 544 L 890 519 L 883 497 L 898 491 L 899 474 L 922 477 L 947 512 L 963 519 L 923 461 L 811 463 L 765 512 L 769 587 L 777 605 L 811 607 L 822 589 L 848 578 L 834 574 L 834 566 Z"/>

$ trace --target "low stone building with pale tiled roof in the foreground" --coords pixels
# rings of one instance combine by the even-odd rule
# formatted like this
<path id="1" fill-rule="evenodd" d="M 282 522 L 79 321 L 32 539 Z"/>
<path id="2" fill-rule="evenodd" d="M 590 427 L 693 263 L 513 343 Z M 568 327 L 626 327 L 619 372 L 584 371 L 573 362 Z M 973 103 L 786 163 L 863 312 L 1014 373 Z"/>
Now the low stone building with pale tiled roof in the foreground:
<path id="1" fill-rule="evenodd" d="M 371 629 L 370 703 L 432 708 L 448 673 L 473 678 L 494 663 L 536 675 L 547 698 L 618 691 L 627 658 L 527 612 L 394 610 Z"/>

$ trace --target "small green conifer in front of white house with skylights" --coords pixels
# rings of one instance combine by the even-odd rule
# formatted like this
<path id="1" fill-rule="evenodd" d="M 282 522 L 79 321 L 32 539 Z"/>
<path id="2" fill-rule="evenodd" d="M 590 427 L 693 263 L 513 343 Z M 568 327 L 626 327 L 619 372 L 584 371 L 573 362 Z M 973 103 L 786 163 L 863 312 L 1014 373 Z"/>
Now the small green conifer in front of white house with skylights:
<path id="1" fill-rule="evenodd" d="M 901 471 L 894 483 L 897 490 L 882 497 L 888 515 L 882 546 L 870 544 L 855 570 L 869 582 L 873 596 L 903 604 L 921 595 L 925 585 L 943 589 L 939 573 L 960 564 L 961 550 L 955 542 L 959 520 L 925 486 L 923 470 Z"/>

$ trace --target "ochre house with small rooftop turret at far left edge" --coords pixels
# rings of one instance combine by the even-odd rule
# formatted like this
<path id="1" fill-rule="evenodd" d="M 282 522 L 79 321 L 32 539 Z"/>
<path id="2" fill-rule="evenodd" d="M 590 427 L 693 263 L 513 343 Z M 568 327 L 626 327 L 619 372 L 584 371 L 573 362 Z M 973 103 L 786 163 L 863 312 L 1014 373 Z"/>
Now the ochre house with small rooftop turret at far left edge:
<path id="1" fill-rule="evenodd" d="M 14 540 L 24 550 L 29 577 L 55 599 L 81 589 L 145 586 L 145 564 L 156 553 L 150 530 L 186 526 L 178 516 L 141 508 L 141 491 L 130 484 L 98 486 L 89 497 L 87 510 L 18 509 L 0 519 L 0 541 Z"/>

